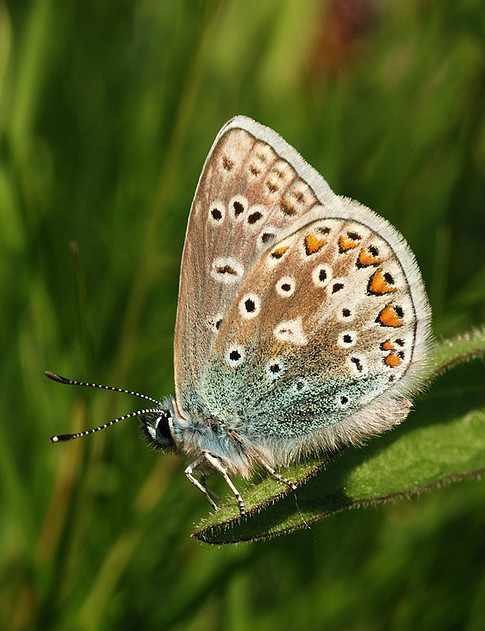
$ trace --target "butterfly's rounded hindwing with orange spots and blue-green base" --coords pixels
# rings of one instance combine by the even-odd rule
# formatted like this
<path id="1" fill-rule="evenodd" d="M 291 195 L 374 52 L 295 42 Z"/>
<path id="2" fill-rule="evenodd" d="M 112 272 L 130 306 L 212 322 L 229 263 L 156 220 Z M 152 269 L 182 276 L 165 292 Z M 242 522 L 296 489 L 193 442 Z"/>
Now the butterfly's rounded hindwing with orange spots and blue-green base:
<path id="1" fill-rule="evenodd" d="M 361 442 L 407 416 L 429 315 L 402 237 L 343 199 L 244 279 L 204 373 L 207 409 L 277 463 Z"/>

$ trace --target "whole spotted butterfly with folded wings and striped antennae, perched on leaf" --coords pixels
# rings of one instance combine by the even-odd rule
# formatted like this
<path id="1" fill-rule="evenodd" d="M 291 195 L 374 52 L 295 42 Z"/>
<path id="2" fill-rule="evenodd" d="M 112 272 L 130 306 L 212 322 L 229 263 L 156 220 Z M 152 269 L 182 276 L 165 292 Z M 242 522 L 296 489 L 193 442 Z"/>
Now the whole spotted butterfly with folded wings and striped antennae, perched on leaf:
<path id="1" fill-rule="evenodd" d="M 431 310 L 402 235 L 336 195 L 276 132 L 237 116 L 218 133 L 190 211 L 174 340 L 175 394 L 138 416 L 150 445 L 208 471 L 277 469 L 399 424 L 431 344 Z"/>

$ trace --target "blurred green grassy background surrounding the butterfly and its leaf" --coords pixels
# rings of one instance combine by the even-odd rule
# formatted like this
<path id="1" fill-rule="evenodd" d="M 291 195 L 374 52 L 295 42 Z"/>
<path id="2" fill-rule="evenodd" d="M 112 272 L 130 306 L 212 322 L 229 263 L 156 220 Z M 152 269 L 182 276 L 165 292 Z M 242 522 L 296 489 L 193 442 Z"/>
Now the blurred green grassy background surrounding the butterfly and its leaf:
<path id="1" fill-rule="evenodd" d="M 204 546 L 135 421 L 48 442 L 135 403 L 42 375 L 172 392 L 187 214 L 235 114 L 401 230 L 438 336 L 483 322 L 483 31 L 478 0 L 0 0 L 2 629 L 484 628 L 483 483 Z"/>

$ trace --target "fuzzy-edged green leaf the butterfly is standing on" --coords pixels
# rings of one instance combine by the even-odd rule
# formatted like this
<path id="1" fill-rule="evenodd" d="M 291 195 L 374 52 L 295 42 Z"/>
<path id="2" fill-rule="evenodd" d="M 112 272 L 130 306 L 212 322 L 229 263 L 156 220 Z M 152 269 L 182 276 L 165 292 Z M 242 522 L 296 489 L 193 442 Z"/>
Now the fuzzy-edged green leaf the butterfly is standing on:
<path id="1" fill-rule="evenodd" d="M 264 479 L 243 492 L 244 518 L 231 501 L 204 519 L 193 536 L 212 544 L 266 539 L 341 510 L 483 473 L 485 389 L 483 371 L 471 361 L 483 357 L 483 331 L 440 343 L 420 384 L 427 392 L 397 429 L 360 449 L 288 468 L 284 474 L 298 485 L 296 492 Z"/>

